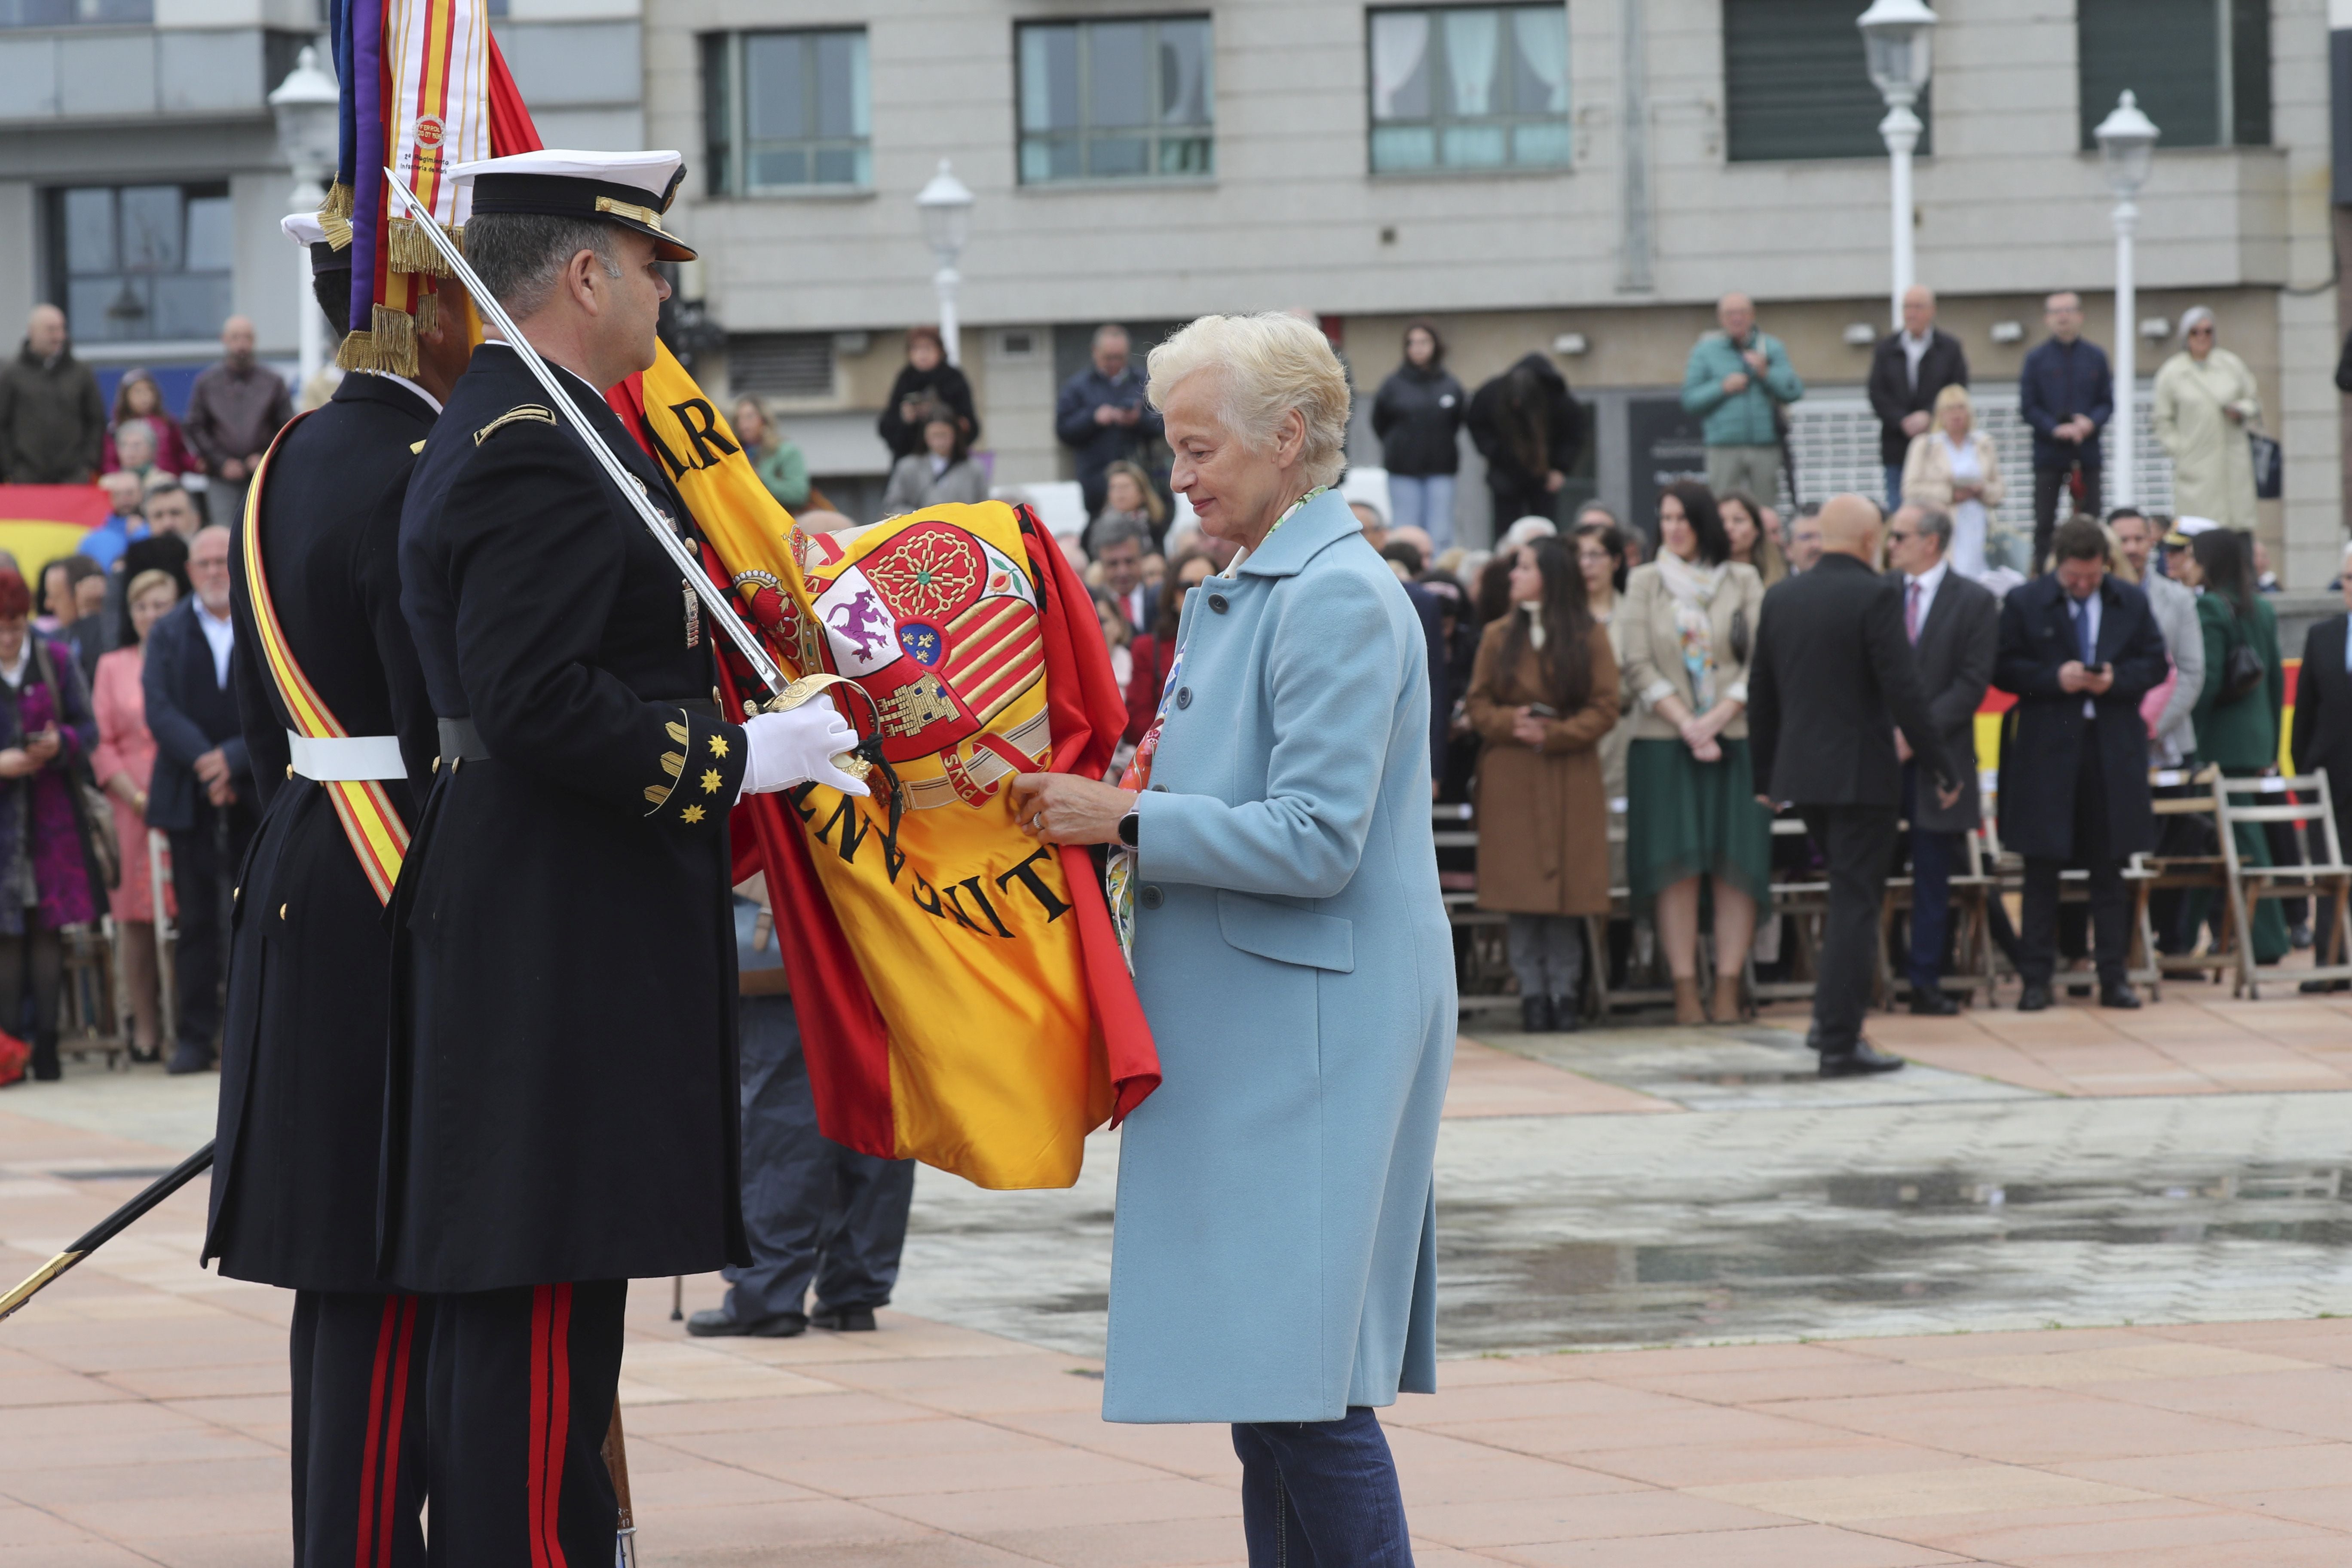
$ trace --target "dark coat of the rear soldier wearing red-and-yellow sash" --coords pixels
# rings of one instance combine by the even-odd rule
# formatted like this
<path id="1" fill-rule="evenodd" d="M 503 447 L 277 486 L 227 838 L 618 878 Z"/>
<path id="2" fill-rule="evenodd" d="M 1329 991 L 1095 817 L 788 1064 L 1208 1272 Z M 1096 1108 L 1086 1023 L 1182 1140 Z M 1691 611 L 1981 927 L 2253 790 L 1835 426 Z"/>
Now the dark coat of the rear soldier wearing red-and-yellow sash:
<path id="1" fill-rule="evenodd" d="M 400 618 L 400 496 L 433 404 L 383 376 L 346 376 L 270 458 L 261 562 L 294 661 L 353 736 L 395 733 L 421 693 Z M 261 795 L 238 872 L 221 1037 L 219 1150 L 205 1255 L 221 1274 L 301 1291 L 376 1288 L 376 1164 L 390 940 L 383 903 L 325 785 L 289 773 L 292 724 L 261 658 L 245 536 L 230 550 L 230 684 Z M 402 759 L 426 776 L 433 726 Z M 383 783 L 414 820 L 409 778 Z"/>

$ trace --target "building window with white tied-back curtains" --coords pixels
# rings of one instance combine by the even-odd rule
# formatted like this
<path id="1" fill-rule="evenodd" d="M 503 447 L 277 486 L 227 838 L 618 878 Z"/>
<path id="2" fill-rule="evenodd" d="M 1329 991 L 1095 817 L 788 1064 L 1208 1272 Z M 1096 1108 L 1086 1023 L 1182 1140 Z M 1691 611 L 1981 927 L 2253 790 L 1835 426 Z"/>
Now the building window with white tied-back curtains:
<path id="1" fill-rule="evenodd" d="M 1569 7 L 1367 12 L 1371 172 L 1564 169 Z"/>

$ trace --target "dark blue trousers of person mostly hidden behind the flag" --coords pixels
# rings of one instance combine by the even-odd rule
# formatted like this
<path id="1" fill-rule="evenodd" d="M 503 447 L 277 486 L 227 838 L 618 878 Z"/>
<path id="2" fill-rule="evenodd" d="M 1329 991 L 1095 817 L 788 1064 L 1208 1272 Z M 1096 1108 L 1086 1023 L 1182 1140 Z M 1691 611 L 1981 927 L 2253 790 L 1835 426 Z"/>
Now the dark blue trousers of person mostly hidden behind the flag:
<path id="1" fill-rule="evenodd" d="M 856 1154 L 816 1131 L 790 997 L 743 997 L 743 1229 L 753 1265 L 724 1269 L 739 1324 L 889 1302 L 915 1161 Z"/>

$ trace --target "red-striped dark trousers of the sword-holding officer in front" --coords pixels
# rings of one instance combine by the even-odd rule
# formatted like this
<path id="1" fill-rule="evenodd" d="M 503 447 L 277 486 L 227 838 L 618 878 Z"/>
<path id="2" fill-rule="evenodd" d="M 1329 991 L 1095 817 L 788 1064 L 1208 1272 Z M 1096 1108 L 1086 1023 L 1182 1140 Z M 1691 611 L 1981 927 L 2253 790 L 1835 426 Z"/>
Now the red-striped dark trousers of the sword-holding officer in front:
<path id="1" fill-rule="evenodd" d="M 626 1279 L 435 1298 L 433 1568 L 602 1568 L 621 1507 L 604 1432 Z"/>

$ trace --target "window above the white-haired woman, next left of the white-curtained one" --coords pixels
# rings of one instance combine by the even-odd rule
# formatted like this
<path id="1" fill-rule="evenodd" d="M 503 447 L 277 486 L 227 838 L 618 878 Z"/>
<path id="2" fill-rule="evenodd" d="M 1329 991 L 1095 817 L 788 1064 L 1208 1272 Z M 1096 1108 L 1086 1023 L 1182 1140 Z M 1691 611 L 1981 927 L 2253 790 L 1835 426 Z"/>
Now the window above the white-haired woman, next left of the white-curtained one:
<path id="1" fill-rule="evenodd" d="M 1216 172 L 1207 16 L 1023 24 L 1021 183 Z"/>

